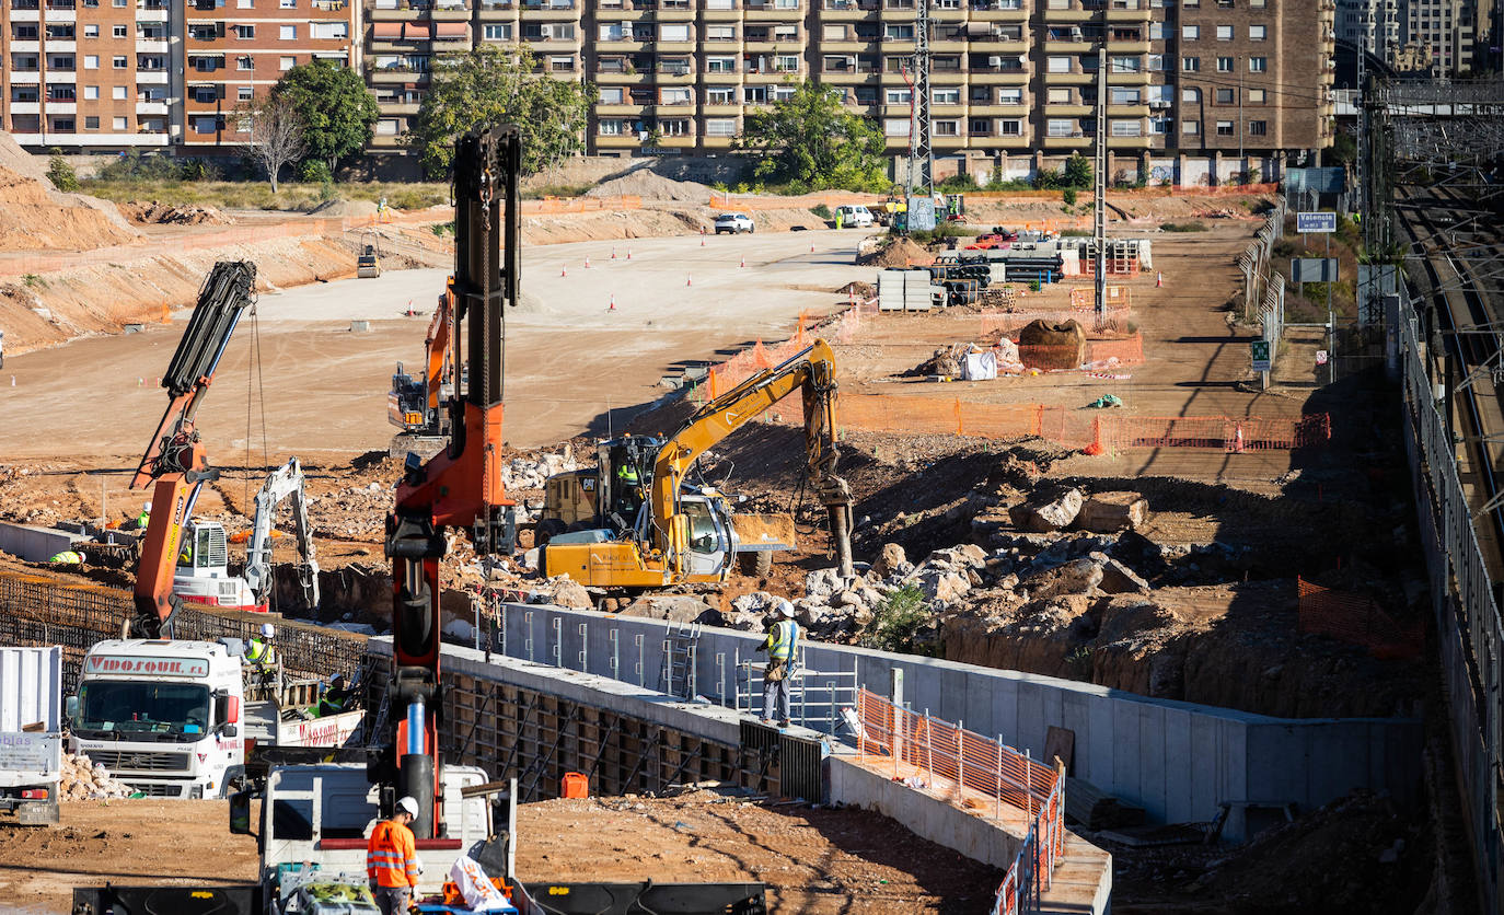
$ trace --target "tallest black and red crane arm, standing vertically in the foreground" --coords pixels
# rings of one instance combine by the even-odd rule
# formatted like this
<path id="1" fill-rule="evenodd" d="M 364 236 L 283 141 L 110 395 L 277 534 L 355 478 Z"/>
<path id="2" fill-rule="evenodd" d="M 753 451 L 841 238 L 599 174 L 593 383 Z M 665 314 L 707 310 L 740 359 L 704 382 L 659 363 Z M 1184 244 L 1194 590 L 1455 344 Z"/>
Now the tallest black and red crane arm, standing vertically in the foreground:
<path id="1" fill-rule="evenodd" d="M 450 445 L 427 462 L 408 454 L 387 521 L 393 561 L 391 698 L 400 713 L 391 787 L 418 801 L 414 834 L 439 822 L 439 560 L 445 531 L 469 536 L 477 554 L 510 552 L 514 503 L 501 483 L 504 310 L 517 301 L 522 143 L 514 125 L 459 140 L 454 150 L 451 349 L 466 355 L 450 402 Z M 463 334 L 462 334 L 463 331 Z M 463 388 L 463 390 L 460 390 Z"/>

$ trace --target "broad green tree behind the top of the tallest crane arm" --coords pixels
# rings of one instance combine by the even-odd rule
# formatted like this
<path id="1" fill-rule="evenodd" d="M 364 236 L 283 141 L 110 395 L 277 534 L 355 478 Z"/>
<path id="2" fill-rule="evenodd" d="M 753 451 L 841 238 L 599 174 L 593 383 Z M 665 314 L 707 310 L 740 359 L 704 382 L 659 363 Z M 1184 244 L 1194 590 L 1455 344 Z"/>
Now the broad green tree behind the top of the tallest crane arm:
<path id="1" fill-rule="evenodd" d="M 538 60 L 523 45 L 481 45 L 433 62 L 429 95 L 408 134 L 430 178 L 448 175 L 454 138 L 493 123 L 522 131 L 522 173 L 535 175 L 585 149 L 585 117 L 596 101 L 590 83 L 534 72 Z"/>

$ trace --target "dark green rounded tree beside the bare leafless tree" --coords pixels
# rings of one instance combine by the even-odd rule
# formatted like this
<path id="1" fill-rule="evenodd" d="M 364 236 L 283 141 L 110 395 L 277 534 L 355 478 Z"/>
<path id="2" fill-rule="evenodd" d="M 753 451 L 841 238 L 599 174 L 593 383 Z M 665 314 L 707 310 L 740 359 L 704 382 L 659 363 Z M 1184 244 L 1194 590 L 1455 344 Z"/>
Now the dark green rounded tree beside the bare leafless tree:
<path id="1" fill-rule="evenodd" d="M 322 160 L 329 175 L 340 160 L 364 149 L 376 135 L 376 96 L 353 69 L 332 60 L 314 60 L 283 74 L 272 87 L 302 119 L 307 155 Z"/>

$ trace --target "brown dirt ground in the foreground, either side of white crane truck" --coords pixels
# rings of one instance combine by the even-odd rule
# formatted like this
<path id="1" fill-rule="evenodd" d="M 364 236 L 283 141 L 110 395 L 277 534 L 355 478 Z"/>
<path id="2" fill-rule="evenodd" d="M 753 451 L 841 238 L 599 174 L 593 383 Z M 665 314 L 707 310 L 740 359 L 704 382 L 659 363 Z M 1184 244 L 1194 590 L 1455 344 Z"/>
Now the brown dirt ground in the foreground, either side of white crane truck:
<path id="1" fill-rule="evenodd" d="M 227 820 L 224 801 L 83 801 L 59 826 L 0 825 L 0 909 L 63 915 L 74 886 L 107 880 L 254 880 L 256 841 Z M 528 804 L 517 831 L 525 883 L 761 880 L 775 912 L 981 912 L 1002 879 L 880 814 L 707 790 Z"/>

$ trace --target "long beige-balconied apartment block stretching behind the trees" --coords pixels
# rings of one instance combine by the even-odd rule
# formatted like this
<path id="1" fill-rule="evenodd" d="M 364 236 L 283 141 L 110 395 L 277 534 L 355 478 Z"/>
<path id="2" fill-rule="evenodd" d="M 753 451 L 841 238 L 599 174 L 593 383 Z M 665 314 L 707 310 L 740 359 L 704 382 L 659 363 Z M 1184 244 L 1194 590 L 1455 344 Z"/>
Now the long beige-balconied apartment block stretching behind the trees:
<path id="1" fill-rule="evenodd" d="M 365 2 L 378 149 L 399 147 L 432 62 L 483 42 L 526 42 L 599 87 L 591 154 L 728 150 L 749 110 L 803 78 L 908 146 L 916 0 Z M 1331 143 L 1333 0 L 928 2 L 937 155 L 1087 152 L 1104 44 L 1114 170 Z"/>

